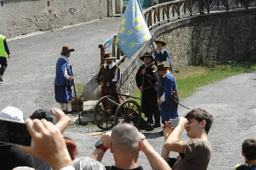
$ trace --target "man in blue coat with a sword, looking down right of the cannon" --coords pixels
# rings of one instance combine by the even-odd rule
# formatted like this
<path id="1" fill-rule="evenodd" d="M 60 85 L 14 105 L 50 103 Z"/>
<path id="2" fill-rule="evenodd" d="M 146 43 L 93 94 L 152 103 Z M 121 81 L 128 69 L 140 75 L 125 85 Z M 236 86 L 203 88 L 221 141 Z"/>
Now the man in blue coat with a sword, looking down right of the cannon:
<path id="1" fill-rule="evenodd" d="M 161 109 L 161 122 L 164 124 L 165 121 L 170 119 L 177 119 L 178 116 L 178 104 L 175 102 L 179 101 L 179 94 L 176 85 L 176 80 L 172 73 L 168 70 L 168 67 L 164 63 L 157 64 L 157 69 L 153 72 L 158 72 L 159 80 L 157 84 L 157 96 L 158 105 Z M 159 132 L 163 134 L 163 130 Z"/>

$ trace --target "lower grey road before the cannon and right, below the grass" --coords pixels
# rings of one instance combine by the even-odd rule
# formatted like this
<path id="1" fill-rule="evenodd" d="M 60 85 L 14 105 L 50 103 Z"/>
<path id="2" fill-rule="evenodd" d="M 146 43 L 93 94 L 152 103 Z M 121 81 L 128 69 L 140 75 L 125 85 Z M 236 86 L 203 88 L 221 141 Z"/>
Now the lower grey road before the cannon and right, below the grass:
<path id="1" fill-rule="evenodd" d="M 202 108 L 213 115 L 212 127 L 208 133 L 208 140 L 212 144 L 212 157 L 208 165 L 209 170 L 233 169 L 233 166 L 243 163 L 241 154 L 242 143 L 246 138 L 256 138 L 256 72 L 239 74 L 236 76 L 214 82 L 198 89 L 191 97 L 182 101 L 182 104 L 190 108 Z M 188 110 L 178 108 L 179 116 L 185 116 Z M 149 143 L 160 154 L 164 137 L 157 132 L 143 132 L 149 138 Z M 184 132 L 185 131 L 185 132 Z M 180 140 L 187 140 L 184 130 Z M 90 156 L 94 150 L 94 142 L 100 136 L 93 136 L 101 132 L 97 128 L 86 129 L 72 127 L 64 132 L 74 139 L 78 145 L 79 157 Z M 175 156 L 176 153 L 171 153 Z M 103 157 L 103 164 L 114 164 L 112 154 L 107 151 Z M 148 160 L 143 152 L 140 152 L 138 165 L 150 169 Z"/>

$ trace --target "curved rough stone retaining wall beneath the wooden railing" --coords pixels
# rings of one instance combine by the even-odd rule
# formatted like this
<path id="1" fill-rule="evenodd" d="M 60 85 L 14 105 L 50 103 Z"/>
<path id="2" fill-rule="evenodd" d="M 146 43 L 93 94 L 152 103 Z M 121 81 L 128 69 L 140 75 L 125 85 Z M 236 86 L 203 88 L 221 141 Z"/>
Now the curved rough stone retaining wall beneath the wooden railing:
<path id="1" fill-rule="evenodd" d="M 167 42 L 164 48 L 169 51 L 174 68 L 229 60 L 255 61 L 255 17 L 256 9 L 198 15 L 163 24 L 150 33 L 153 40 L 161 38 Z M 121 93 L 132 95 L 138 89 L 135 75 L 142 64 L 139 57 L 150 50 L 149 41 L 120 65 Z M 88 83 L 86 87 L 92 87 L 92 84 Z M 93 88 L 96 87 L 98 85 L 94 84 Z M 92 92 L 93 95 L 84 93 L 84 98 L 99 99 L 99 87 Z"/>

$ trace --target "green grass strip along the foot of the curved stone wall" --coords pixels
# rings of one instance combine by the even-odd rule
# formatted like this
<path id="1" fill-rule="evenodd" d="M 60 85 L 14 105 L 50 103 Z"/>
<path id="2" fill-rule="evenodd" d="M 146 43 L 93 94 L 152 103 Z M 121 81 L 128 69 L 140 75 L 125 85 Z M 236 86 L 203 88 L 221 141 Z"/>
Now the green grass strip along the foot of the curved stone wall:
<path id="1" fill-rule="evenodd" d="M 178 86 L 180 99 L 191 96 L 198 87 L 208 85 L 214 81 L 256 70 L 256 63 L 228 61 L 224 65 L 189 66 L 173 72 Z M 133 95 L 140 98 L 140 90 Z M 140 104 L 139 99 L 131 99 Z"/>

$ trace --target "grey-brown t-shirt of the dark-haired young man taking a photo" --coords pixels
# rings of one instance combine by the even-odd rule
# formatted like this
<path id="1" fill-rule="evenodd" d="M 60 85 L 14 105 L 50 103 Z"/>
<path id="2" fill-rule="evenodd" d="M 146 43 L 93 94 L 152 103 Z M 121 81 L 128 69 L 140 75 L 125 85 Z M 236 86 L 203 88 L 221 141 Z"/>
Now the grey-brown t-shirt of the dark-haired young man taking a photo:
<path id="1" fill-rule="evenodd" d="M 172 170 L 206 170 L 212 156 L 211 143 L 208 140 L 190 139 L 181 141 L 184 153 L 180 153 Z"/>

